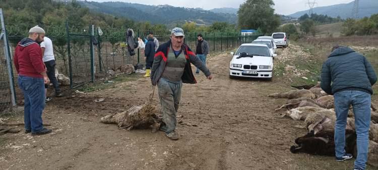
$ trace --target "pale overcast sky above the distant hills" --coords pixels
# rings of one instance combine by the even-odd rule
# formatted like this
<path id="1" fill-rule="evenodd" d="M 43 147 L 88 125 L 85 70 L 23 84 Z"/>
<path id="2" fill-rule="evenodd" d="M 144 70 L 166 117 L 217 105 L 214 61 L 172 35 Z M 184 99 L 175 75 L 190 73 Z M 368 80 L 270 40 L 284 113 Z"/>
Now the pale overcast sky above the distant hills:
<path id="1" fill-rule="evenodd" d="M 127 3 L 138 3 L 146 5 L 164 5 L 168 4 L 175 7 L 188 7 L 188 8 L 203 8 L 205 10 L 211 10 L 214 8 L 239 8 L 240 4 L 245 2 L 244 0 L 216 0 L 214 1 L 199 1 L 199 0 L 87 0 L 96 2 L 107 1 L 120 1 Z M 307 10 L 308 6 L 305 5 L 308 0 L 273 0 L 276 9 L 276 13 L 289 15 L 298 11 Z M 314 1 L 314 0 L 310 0 Z M 318 3 L 315 7 L 323 7 L 336 4 L 350 3 L 353 0 L 317 0 Z"/>

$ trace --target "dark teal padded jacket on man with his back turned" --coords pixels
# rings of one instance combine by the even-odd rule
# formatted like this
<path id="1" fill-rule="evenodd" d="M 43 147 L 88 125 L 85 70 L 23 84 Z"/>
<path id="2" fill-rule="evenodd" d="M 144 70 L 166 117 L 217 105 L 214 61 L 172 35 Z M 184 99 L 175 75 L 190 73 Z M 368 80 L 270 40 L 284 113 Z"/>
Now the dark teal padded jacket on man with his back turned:
<path id="1" fill-rule="evenodd" d="M 321 87 L 328 94 L 357 90 L 373 94 L 376 75 L 365 56 L 349 47 L 335 49 L 324 62 Z"/>

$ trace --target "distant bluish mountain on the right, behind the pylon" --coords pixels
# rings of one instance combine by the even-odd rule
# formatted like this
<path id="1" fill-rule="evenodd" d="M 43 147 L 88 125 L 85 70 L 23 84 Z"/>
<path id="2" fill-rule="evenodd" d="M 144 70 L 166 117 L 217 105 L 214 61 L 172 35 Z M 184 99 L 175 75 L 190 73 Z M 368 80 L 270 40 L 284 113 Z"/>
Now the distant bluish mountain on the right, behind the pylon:
<path id="1" fill-rule="evenodd" d="M 353 3 L 354 2 L 351 2 L 349 4 L 339 4 L 328 7 L 317 7 L 313 8 L 313 13 L 328 15 L 334 18 L 338 16 L 340 16 L 342 19 L 352 18 Z M 289 16 L 299 18 L 300 16 L 306 13 L 308 13 L 308 10 L 296 12 Z M 378 1 L 360 0 L 358 13 L 359 18 L 370 17 L 372 14 L 376 13 L 378 13 Z"/>

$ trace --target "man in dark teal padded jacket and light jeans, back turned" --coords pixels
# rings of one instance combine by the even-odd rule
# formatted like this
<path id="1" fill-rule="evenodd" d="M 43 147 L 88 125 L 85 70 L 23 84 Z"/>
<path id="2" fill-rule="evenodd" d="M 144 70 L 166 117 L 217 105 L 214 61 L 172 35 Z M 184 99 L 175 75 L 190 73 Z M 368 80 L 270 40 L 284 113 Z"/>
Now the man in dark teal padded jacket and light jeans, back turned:
<path id="1" fill-rule="evenodd" d="M 335 151 L 336 160 L 352 158 L 345 152 L 345 127 L 349 105 L 353 106 L 357 133 L 355 170 L 364 170 L 367 161 L 372 85 L 377 78 L 365 56 L 344 46 L 335 46 L 323 64 L 322 89 L 335 96 Z"/>

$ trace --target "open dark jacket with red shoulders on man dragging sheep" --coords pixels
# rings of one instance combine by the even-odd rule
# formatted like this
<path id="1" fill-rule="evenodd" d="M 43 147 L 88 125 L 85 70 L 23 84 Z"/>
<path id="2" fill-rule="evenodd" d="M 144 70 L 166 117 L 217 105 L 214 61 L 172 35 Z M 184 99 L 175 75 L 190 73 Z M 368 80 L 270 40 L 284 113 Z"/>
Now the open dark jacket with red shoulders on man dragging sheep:
<path id="1" fill-rule="evenodd" d="M 168 56 L 168 51 L 169 51 L 170 46 L 171 46 L 171 40 L 169 40 L 166 43 L 161 44 L 158 50 L 156 51 L 154 63 L 151 69 L 152 85 L 157 84 L 161 75 L 164 72 L 165 65 L 167 64 L 167 56 Z M 199 68 L 202 72 L 204 72 L 206 77 L 211 75 L 210 70 L 206 68 L 205 65 L 203 65 L 202 61 L 194 54 L 194 52 L 186 44 L 183 44 L 181 48 L 186 58 L 186 65 L 184 68 L 184 73 L 181 76 L 182 83 L 190 83 L 190 84 L 197 83 L 192 72 L 191 63 L 194 64 L 197 68 Z"/>

